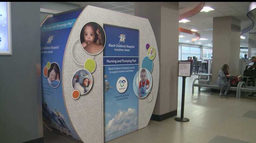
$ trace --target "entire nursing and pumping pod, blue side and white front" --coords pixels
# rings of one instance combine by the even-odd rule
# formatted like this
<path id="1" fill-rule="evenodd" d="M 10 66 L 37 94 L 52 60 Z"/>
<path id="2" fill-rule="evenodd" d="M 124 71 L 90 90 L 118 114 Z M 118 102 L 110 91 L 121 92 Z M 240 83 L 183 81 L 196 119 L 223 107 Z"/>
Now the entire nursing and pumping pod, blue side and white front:
<path id="1" fill-rule="evenodd" d="M 54 26 L 57 25 L 56 23 L 58 22 L 62 22 L 59 23 L 59 27 L 61 27 L 61 24 L 67 24 L 62 26 L 62 29 L 56 29 Z M 83 36 L 84 31 L 86 31 L 86 26 L 84 25 L 88 22 L 94 22 L 96 25 L 94 27 L 100 31 L 96 31 L 97 38 L 94 37 L 94 41 L 92 41 L 92 43 L 102 45 L 99 46 L 98 51 L 95 51 L 96 48 L 93 50 L 86 49 L 86 46 L 92 45 L 90 42 L 86 44 L 85 36 Z M 93 24 L 91 24 L 91 28 L 93 29 L 92 25 Z M 53 27 L 52 29 L 49 28 L 51 26 Z M 103 28 L 101 29 L 101 27 L 103 27 L 104 30 Z M 110 29 L 108 30 L 107 28 Z M 115 33 L 111 33 L 111 31 L 113 31 L 111 28 L 116 29 L 115 32 L 121 33 L 115 35 Z M 64 30 L 65 32 L 60 30 Z M 81 30 L 84 33 L 81 32 Z M 126 31 L 128 31 L 128 33 L 138 33 L 139 35 L 125 34 Z M 82 34 L 80 35 L 80 33 Z M 101 33 L 101 36 L 99 36 L 98 33 Z M 138 39 L 135 38 L 136 35 Z M 80 36 L 82 38 L 80 38 Z M 99 40 L 100 42 L 98 42 L 96 39 L 101 39 L 101 41 Z M 133 41 L 129 41 L 131 39 L 133 39 Z M 114 43 L 116 42 L 115 44 L 117 44 L 117 46 L 127 45 L 128 47 L 124 48 L 119 46 L 116 49 L 130 49 L 131 51 L 135 51 L 134 53 L 122 57 L 120 57 L 119 54 L 125 52 L 117 51 L 119 57 L 109 52 L 113 54 L 111 58 L 127 59 L 123 61 L 129 61 L 130 59 L 131 62 L 127 63 L 129 65 L 117 64 L 103 66 L 106 62 L 105 59 L 109 58 L 107 51 L 110 49 L 113 50 L 114 48 L 109 45 L 111 42 L 113 44 L 113 41 Z M 83 48 L 84 46 L 85 48 Z M 133 48 L 133 46 L 135 48 Z M 51 49 L 51 47 L 53 48 Z M 100 48 L 103 50 L 100 50 Z M 48 51 L 53 52 L 49 53 Z M 128 50 L 126 50 L 126 53 L 127 51 Z M 138 53 L 137 56 L 135 54 L 136 52 Z M 76 141 L 84 143 L 106 142 L 148 125 L 154 110 L 159 84 L 158 49 L 148 19 L 93 6 L 86 6 L 80 11 L 53 16 L 47 18 L 41 26 L 41 53 L 42 90 L 43 98 L 45 99 L 43 100 L 43 107 L 45 109 L 44 121 L 47 122 L 46 125 L 54 128 L 56 131 L 62 132 L 65 136 L 72 137 Z M 104 58 L 103 54 L 105 54 Z M 135 56 L 133 56 L 133 54 Z M 134 58 L 134 60 L 132 60 L 132 58 Z M 58 66 L 60 72 L 58 72 Z M 133 69 L 134 72 L 125 73 L 124 71 L 122 74 L 123 77 L 126 78 L 122 79 L 120 77 L 123 83 L 118 83 L 116 79 L 110 78 L 111 74 L 104 75 L 104 72 L 108 69 L 106 67 L 110 66 L 135 68 Z M 57 72 L 52 71 L 53 69 Z M 141 84 L 140 77 L 143 73 L 142 69 L 145 69 L 146 77 L 150 84 L 148 85 L 148 83 L 145 82 L 148 88 L 145 88 L 145 93 L 140 95 L 139 92 L 141 88 L 138 90 L 138 87 L 141 87 L 139 85 Z M 48 75 L 51 75 L 52 78 Z M 60 78 L 58 78 L 59 75 Z M 131 75 L 132 80 L 128 75 Z M 120 78 L 118 76 L 118 80 L 120 80 Z M 57 86 L 57 84 L 54 83 L 55 81 L 59 81 L 60 84 Z M 112 98 L 112 96 L 109 96 L 109 93 L 117 91 L 118 84 L 123 88 L 126 81 L 128 82 L 128 85 L 126 85 L 127 89 L 125 89 L 125 91 L 118 91 L 118 94 L 113 95 L 113 102 L 109 103 L 108 99 Z M 76 85 L 83 88 L 77 88 Z M 133 92 L 131 92 L 131 90 L 133 90 Z M 119 96 L 125 97 L 125 95 L 128 97 L 119 98 Z M 116 96 L 116 98 L 114 96 Z M 117 98 L 118 100 L 115 100 Z M 127 103 L 127 105 L 121 105 L 121 103 Z M 134 110 L 132 110 L 132 103 L 134 103 Z M 113 105 L 116 109 L 115 111 L 111 110 L 111 114 L 106 112 L 109 111 L 108 109 L 110 108 L 108 107 L 110 105 Z M 131 116 L 133 113 L 134 116 Z M 119 119 L 127 119 L 122 118 L 122 116 L 128 116 L 128 118 L 133 119 L 132 125 L 135 126 L 135 128 L 129 130 L 127 126 L 119 124 Z M 131 120 L 127 120 L 124 122 L 129 124 L 130 121 Z M 126 132 L 121 133 L 122 130 L 118 130 L 117 128 L 122 128 L 122 130 L 126 130 Z M 120 132 L 120 134 L 115 134 L 115 132 Z"/>

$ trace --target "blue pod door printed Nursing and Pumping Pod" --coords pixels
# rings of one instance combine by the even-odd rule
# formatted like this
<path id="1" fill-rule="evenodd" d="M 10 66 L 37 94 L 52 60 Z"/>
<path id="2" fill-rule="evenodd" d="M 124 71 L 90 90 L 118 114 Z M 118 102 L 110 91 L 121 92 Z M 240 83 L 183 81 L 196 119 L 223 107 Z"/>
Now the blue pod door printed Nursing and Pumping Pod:
<path id="1" fill-rule="evenodd" d="M 138 97 L 133 80 L 139 70 L 139 30 L 104 24 L 104 140 L 138 129 Z"/>

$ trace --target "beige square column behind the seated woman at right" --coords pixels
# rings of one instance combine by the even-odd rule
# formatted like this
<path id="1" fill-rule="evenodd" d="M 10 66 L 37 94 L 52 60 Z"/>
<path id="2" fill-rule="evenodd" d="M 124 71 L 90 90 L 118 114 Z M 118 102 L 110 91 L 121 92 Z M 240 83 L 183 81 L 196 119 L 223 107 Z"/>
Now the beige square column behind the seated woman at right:
<path id="1" fill-rule="evenodd" d="M 217 81 L 223 64 L 228 64 L 229 74 L 239 73 L 240 24 L 232 16 L 213 18 L 212 82 Z"/>

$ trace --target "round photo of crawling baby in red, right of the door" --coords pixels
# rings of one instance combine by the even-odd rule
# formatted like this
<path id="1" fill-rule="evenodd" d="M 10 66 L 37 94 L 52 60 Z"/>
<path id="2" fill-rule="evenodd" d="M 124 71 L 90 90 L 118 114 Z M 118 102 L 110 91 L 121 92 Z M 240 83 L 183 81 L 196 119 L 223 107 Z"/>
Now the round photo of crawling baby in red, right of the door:
<path id="1" fill-rule="evenodd" d="M 148 69 L 140 69 L 133 79 L 133 90 L 137 97 L 147 97 L 152 88 L 153 79 Z"/>

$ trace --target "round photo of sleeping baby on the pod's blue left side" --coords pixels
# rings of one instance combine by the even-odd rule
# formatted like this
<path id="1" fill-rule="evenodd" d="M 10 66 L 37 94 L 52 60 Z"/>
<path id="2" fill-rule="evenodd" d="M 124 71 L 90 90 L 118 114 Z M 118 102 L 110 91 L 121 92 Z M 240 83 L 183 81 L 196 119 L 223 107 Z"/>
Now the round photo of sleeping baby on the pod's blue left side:
<path id="1" fill-rule="evenodd" d="M 57 88 L 61 82 L 61 69 L 57 62 L 52 62 L 47 70 L 47 80 L 52 88 Z"/>

